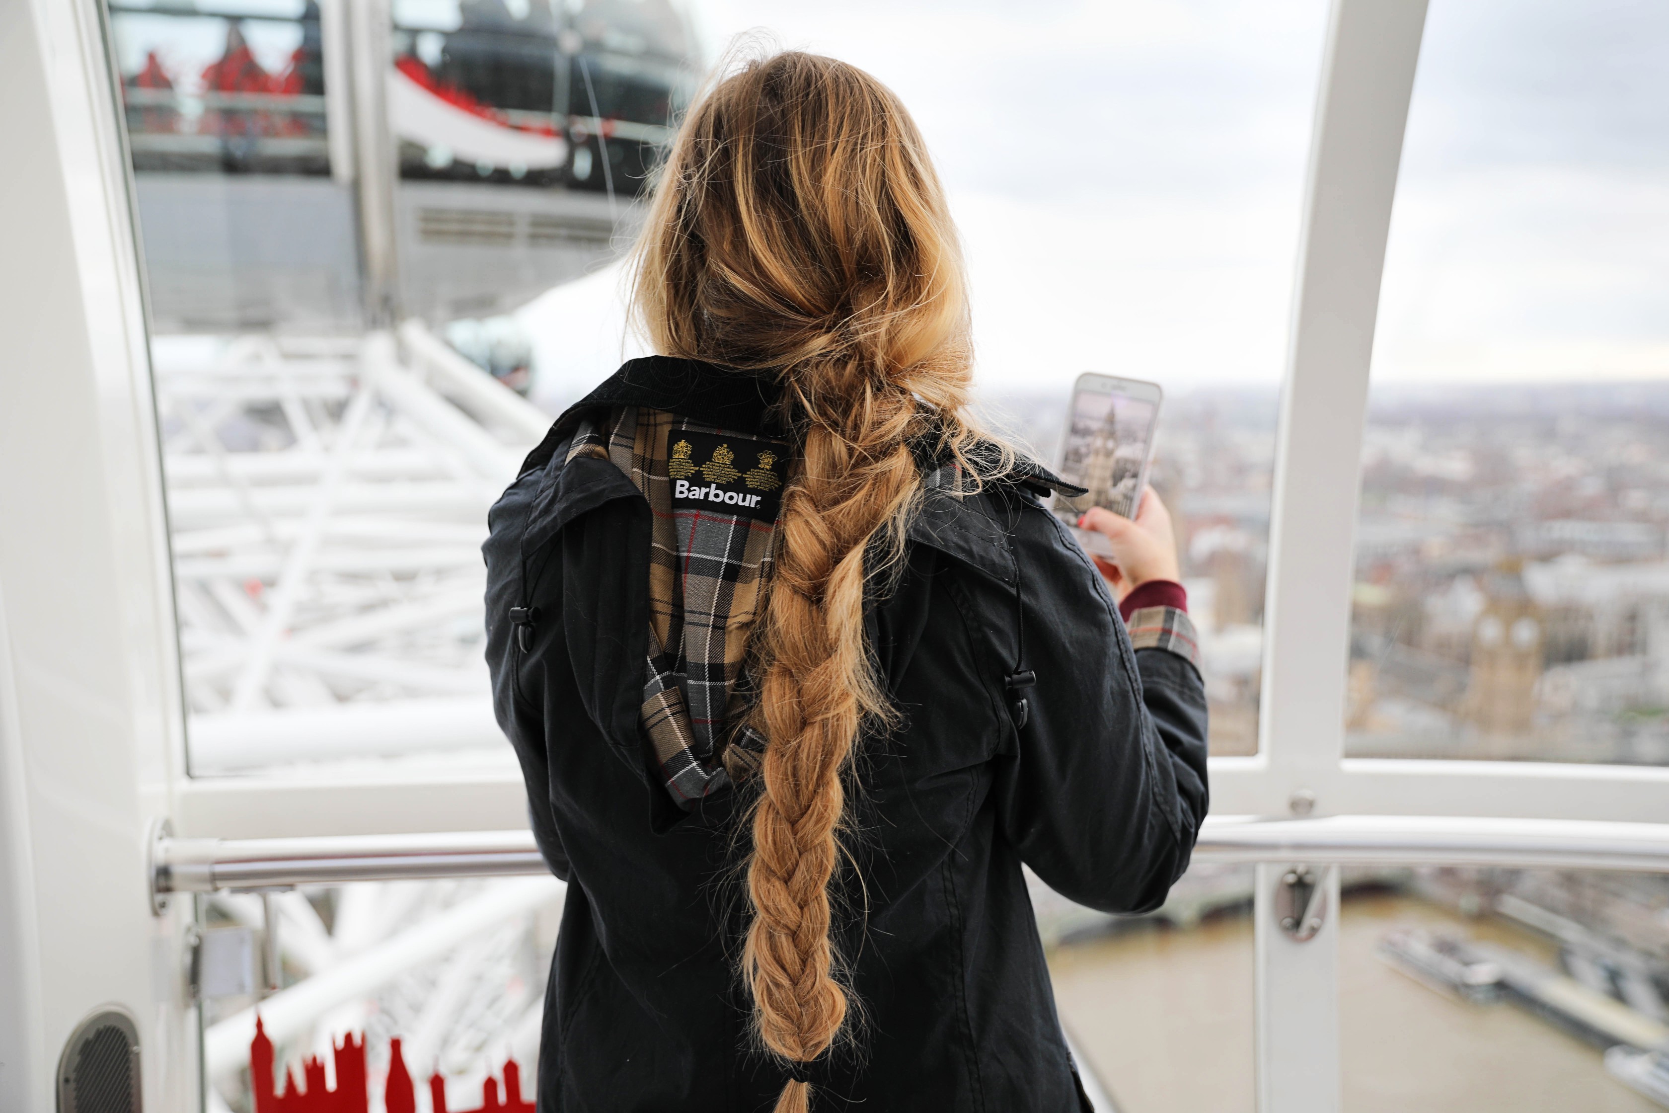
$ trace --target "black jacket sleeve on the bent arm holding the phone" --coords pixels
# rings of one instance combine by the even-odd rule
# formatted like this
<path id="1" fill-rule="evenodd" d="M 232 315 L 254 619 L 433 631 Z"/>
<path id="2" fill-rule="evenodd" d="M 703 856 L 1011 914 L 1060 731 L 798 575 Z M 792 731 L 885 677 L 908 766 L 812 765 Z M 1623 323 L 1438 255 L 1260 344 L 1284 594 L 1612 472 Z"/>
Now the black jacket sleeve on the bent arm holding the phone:
<path id="1" fill-rule="evenodd" d="M 1036 681 L 1015 753 L 998 759 L 1000 823 L 1061 896 L 1152 911 L 1205 819 L 1205 686 L 1187 657 L 1130 647 L 1107 582 L 1053 514 L 1028 506 L 1013 544 Z"/>

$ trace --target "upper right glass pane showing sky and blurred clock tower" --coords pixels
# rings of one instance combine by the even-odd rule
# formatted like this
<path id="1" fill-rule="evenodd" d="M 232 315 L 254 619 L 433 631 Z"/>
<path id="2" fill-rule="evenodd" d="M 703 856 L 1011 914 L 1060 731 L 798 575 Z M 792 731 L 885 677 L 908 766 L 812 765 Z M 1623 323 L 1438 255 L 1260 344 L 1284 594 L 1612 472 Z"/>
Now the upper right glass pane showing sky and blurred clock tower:
<path id="1" fill-rule="evenodd" d="M 1354 756 L 1669 761 L 1669 12 L 1437 0 L 1357 529 Z"/>

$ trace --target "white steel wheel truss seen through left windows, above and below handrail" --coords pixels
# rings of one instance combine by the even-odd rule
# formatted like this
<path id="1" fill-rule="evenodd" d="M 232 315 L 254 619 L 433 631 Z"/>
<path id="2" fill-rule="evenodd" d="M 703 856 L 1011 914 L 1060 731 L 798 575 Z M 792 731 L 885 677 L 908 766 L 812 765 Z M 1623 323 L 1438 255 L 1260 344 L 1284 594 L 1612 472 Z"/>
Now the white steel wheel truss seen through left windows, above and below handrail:
<path id="1" fill-rule="evenodd" d="M 416 322 L 354 340 L 159 337 L 154 377 L 192 773 L 512 764 L 482 659 L 481 542 L 549 417 Z M 267 1035 L 292 1065 L 329 1061 L 347 1031 L 374 1056 L 402 1036 L 414 1070 L 461 1095 L 507 1056 L 532 1068 L 551 934 L 534 914 L 561 891 L 282 893 L 292 985 L 260 1003 Z M 264 923 L 254 896 L 212 906 Z M 255 1006 L 209 1010 L 210 1103 L 235 1105 Z"/>

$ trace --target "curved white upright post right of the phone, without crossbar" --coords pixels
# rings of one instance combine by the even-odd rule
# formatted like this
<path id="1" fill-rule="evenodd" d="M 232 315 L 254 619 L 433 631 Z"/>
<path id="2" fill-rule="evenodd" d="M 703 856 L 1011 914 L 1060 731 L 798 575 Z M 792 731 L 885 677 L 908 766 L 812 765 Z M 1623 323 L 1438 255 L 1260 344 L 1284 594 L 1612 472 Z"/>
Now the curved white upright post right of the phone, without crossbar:
<path id="1" fill-rule="evenodd" d="M 1337 811 L 1362 422 L 1425 0 L 1334 0 L 1310 138 L 1270 511 L 1258 814 Z M 1308 811 L 1308 809 L 1307 809 Z M 1339 918 L 1305 943 L 1255 919 L 1257 1108 L 1337 1113 Z M 1337 871 L 1324 884 L 1337 901 Z"/>

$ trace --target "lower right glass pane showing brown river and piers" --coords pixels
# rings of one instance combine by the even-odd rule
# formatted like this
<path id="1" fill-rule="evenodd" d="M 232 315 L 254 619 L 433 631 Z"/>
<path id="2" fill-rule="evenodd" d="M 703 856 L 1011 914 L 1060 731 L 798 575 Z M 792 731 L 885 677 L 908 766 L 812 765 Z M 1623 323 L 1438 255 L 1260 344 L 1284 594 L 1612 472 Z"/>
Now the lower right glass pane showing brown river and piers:
<path id="1" fill-rule="evenodd" d="M 1654 874 L 1347 873 L 1345 1110 L 1662 1108 L 1666 921 Z"/>

